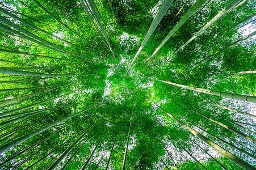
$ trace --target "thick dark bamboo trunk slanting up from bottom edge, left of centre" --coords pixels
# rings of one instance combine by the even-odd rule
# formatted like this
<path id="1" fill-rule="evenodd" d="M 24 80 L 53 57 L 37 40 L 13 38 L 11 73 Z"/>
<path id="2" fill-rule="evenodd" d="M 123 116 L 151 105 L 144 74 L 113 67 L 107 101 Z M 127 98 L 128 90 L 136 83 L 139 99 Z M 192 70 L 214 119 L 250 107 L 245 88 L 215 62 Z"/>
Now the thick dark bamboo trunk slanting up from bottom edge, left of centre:
<path id="1" fill-rule="evenodd" d="M 83 133 L 77 140 L 75 140 L 74 143 L 72 143 L 72 145 L 70 145 L 62 154 L 60 157 L 58 157 L 58 159 L 56 159 L 52 165 L 50 167 L 47 168 L 47 170 L 50 170 L 50 169 L 55 169 L 57 167 L 57 165 L 65 158 L 65 156 L 78 144 L 79 141 L 81 141 L 81 139 L 83 137 L 85 137 L 85 135 L 91 130 L 94 128 L 94 126 L 96 124 L 98 124 L 98 122 L 103 118 L 103 116 L 95 122 L 95 124 L 93 126 L 91 126 L 89 129 L 87 129 L 85 131 L 85 133 Z"/>

